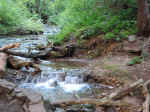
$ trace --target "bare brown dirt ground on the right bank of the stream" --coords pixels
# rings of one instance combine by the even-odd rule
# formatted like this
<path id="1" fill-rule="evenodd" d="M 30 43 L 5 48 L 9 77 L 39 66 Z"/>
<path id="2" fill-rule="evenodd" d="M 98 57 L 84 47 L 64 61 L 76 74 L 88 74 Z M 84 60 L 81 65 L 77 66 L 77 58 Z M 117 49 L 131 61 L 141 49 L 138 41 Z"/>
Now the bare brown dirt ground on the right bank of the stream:
<path id="1" fill-rule="evenodd" d="M 143 79 L 144 82 L 150 79 L 150 64 L 148 61 L 142 60 L 140 63 L 134 63 L 131 66 L 128 65 L 134 57 L 141 55 L 139 55 L 139 52 L 141 51 L 138 49 L 140 48 L 139 41 L 142 43 L 142 40 L 136 40 L 131 43 L 128 40 L 125 40 L 128 44 L 124 44 L 124 42 L 108 42 L 103 46 L 101 43 L 97 44 L 97 42 L 100 41 L 96 40 L 91 44 L 92 46 L 96 44 L 96 46 L 94 46 L 95 48 L 86 53 L 84 52 L 86 55 L 80 52 L 80 54 L 84 54 L 84 56 L 79 57 L 89 57 L 91 52 L 93 55 L 95 52 L 100 52 L 100 50 L 104 48 L 101 56 L 89 60 L 87 68 L 91 72 L 91 75 L 95 77 L 94 82 L 113 86 L 114 89 L 112 91 L 115 91 L 118 88 L 128 87 L 139 79 Z M 130 50 L 134 50 L 135 52 L 130 52 Z M 110 91 L 105 94 L 110 94 Z M 145 99 L 143 96 L 143 90 L 138 90 L 138 92 L 136 91 L 135 93 L 133 92 L 132 95 L 130 94 L 122 99 L 131 104 L 130 106 L 116 108 L 116 110 L 113 111 L 105 110 L 105 112 L 142 112 Z M 100 108 L 97 112 L 101 112 L 102 110 L 103 109 Z"/>

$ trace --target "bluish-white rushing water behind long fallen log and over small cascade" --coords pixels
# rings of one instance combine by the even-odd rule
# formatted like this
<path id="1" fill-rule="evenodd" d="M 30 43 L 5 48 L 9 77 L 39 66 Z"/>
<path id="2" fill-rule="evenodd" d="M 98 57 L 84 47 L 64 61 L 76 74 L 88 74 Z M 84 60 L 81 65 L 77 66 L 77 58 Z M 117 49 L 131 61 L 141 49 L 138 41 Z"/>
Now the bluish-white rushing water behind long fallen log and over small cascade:
<path id="1" fill-rule="evenodd" d="M 32 52 L 39 52 L 36 49 L 38 46 L 48 45 L 46 36 L 56 34 L 58 31 L 59 29 L 54 26 L 45 26 L 43 35 L 1 36 L 0 46 L 18 42 L 21 46 L 14 50 L 29 52 L 32 48 Z M 86 60 L 77 59 L 40 60 L 40 74 L 32 76 L 30 74 L 32 68 L 29 70 L 20 69 L 20 71 L 29 73 L 19 81 L 18 87 L 36 91 L 50 102 L 92 97 L 95 87 L 85 82 L 85 75 L 88 74 L 88 70 L 85 69 L 86 64 Z M 15 77 L 15 80 L 18 79 Z"/>

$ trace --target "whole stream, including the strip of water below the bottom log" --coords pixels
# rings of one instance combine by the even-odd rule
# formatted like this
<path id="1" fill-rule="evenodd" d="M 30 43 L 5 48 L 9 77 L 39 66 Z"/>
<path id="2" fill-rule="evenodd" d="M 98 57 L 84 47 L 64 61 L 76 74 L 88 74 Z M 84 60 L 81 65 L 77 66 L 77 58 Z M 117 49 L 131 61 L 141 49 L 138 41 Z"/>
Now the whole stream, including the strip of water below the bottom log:
<path id="1" fill-rule="evenodd" d="M 47 46 L 47 35 L 56 34 L 59 28 L 55 26 L 44 26 L 42 35 L 13 35 L 0 36 L 0 47 L 18 42 L 20 43 L 17 50 L 19 52 L 38 53 L 39 46 Z M 32 50 L 31 50 L 32 49 Z M 23 57 L 18 57 L 22 60 L 32 60 Z M 14 70 L 9 69 L 8 75 L 5 78 L 18 85 L 19 88 L 30 89 L 43 96 L 44 101 L 56 102 L 64 100 L 77 100 L 80 98 L 95 98 L 95 93 L 100 93 L 104 88 L 111 89 L 109 86 L 88 83 L 86 75 L 90 72 L 86 69 L 88 60 L 84 59 L 53 59 L 41 60 L 39 62 L 41 72 L 31 74 L 33 69 Z M 45 107 L 47 112 L 48 108 Z M 54 112 L 94 112 L 93 106 L 78 105 L 71 106 L 68 109 L 56 108 Z"/>

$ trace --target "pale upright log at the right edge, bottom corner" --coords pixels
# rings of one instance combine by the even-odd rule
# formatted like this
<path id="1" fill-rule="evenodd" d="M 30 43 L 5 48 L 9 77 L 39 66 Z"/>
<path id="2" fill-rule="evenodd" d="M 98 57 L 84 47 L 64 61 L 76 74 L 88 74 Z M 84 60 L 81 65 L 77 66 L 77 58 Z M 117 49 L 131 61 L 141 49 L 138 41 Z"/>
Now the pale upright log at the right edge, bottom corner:
<path id="1" fill-rule="evenodd" d="M 146 94 L 146 100 L 143 103 L 143 112 L 149 112 L 149 106 L 150 106 L 150 94 L 149 94 L 149 89 L 150 89 L 150 80 L 146 81 L 143 85 L 144 92 Z"/>

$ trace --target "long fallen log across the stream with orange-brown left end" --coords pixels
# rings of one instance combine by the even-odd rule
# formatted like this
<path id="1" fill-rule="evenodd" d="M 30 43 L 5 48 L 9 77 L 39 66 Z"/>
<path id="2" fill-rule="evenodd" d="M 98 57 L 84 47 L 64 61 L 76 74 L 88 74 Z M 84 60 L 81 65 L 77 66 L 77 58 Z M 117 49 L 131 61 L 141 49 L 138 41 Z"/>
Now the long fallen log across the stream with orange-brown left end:
<path id="1" fill-rule="evenodd" d="M 16 50 L 11 50 L 11 48 L 19 47 L 19 43 L 14 43 L 10 45 L 3 46 L 0 48 L 0 52 L 5 52 L 9 55 L 15 55 L 26 58 L 62 58 L 62 57 L 71 57 L 75 51 L 75 47 L 63 46 L 63 47 L 48 47 L 44 50 L 40 50 L 39 52 L 20 52 Z M 32 50 L 31 50 L 32 51 Z"/>

